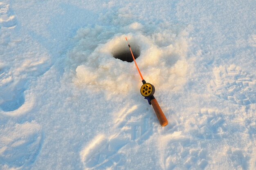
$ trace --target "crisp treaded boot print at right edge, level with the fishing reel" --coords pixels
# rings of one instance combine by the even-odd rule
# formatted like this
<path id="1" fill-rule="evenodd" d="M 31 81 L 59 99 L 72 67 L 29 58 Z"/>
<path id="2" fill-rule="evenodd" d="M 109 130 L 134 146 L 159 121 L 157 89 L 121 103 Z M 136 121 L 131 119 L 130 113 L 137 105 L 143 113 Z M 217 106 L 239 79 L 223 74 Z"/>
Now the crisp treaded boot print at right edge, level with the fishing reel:
<path id="1" fill-rule="evenodd" d="M 248 105 L 256 102 L 256 81 L 253 75 L 232 64 L 214 70 L 215 79 L 210 88 L 214 95 L 234 104 Z"/>

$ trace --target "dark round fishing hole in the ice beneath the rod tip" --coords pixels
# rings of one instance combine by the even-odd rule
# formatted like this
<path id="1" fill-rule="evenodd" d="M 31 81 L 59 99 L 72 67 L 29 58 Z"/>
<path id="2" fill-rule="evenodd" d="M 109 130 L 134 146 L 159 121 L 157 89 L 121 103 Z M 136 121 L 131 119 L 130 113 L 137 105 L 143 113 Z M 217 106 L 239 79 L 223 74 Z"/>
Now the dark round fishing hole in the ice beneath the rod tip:
<path id="1" fill-rule="evenodd" d="M 138 58 L 140 55 L 139 46 L 134 42 L 130 42 L 130 47 L 136 60 L 136 58 Z M 119 44 L 112 49 L 113 57 L 124 62 L 133 62 L 132 53 L 130 52 L 130 48 L 128 47 L 127 43 Z"/>

